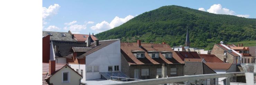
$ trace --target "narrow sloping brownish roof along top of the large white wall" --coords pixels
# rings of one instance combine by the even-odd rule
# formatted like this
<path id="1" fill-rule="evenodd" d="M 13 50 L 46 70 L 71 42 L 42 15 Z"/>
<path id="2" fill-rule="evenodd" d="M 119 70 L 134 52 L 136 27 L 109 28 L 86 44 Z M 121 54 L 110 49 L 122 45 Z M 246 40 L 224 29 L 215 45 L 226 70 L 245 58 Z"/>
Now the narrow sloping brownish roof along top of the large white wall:
<path id="1" fill-rule="evenodd" d="M 116 42 L 118 41 L 119 39 L 115 39 L 115 40 L 103 40 L 103 41 L 99 41 L 99 46 L 95 46 L 95 42 L 92 42 L 91 43 L 91 46 L 90 47 L 94 47 L 92 48 L 91 50 L 85 52 L 84 54 L 82 54 L 81 56 L 78 56 L 77 58 L 84 58 L 85 56 L 103 48 L 103 47 L 106 47 L 108 46 L 109 44 L 112 44 L 113 42 Z"/>

